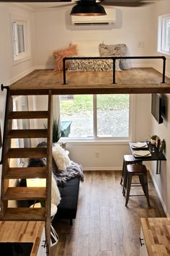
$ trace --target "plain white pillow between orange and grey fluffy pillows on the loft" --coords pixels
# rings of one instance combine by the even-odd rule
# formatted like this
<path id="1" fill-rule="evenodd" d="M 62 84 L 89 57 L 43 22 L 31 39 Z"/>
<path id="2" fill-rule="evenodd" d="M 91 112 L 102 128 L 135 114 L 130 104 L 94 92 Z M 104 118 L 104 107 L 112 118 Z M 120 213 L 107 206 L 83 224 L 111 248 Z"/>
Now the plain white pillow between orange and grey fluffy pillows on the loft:
<path id="1" fill-rule="evenodd" d="M 73 41 L 71 44 L 76 44 L 78 55 L 82 57 L 98 57 L 99 56 L 99 41 L 85 40 Z"/>

